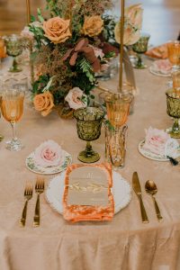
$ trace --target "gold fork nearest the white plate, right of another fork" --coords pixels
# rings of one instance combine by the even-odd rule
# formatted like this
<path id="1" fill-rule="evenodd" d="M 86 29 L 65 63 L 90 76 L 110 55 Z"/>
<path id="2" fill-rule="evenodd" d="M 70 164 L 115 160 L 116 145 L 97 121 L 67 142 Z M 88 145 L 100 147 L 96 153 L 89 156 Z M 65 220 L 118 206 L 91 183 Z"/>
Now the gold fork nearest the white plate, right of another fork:
<path id="1" fill-rule="evenodd" d="M 44 191 L 44 178 L 39 176 L 35 184 L 35 192 L 38 194 L 38 196 L 33 219 L 33 227 L 40 226 L 40 194 L 43 193 L 43 191 Z"/>

